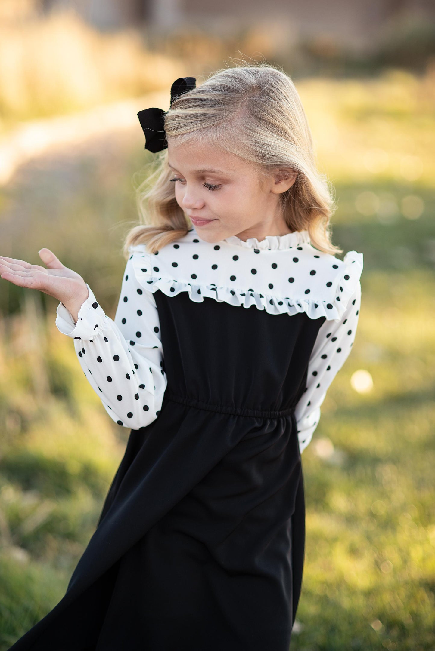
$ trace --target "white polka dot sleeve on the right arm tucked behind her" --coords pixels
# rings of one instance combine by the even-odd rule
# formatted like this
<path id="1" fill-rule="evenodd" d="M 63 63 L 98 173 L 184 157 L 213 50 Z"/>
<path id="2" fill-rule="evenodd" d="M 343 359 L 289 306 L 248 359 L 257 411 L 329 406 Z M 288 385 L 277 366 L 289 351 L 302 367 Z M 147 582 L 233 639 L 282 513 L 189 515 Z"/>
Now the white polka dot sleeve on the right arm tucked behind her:
<path id="1" fill-rule="evenodd" d="M 359 319 L 361 283 L 357 283 L 346 311 L 338 321 L 325 320 L 319 329 L 307 370 L 307 386 L 297 406 L 297 437 L 301 453 L 312 439 L 320 420 L 320 406 L 340 368 L 348 358 Z"/>

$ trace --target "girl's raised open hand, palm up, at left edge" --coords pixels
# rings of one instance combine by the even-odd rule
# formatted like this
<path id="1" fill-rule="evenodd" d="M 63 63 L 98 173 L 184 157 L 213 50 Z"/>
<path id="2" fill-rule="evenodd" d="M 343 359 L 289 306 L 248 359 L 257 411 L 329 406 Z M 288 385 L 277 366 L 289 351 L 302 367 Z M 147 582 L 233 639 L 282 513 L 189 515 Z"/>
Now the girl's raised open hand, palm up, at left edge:
<path id="1" fill-rule="evenodd" d="M 37 289 L 53 296 L 77 321 L 80 306 L 89 296 L 85 281 L 76 271 L 65 267 L 50 249 L 41 249 L 39 256 L 47 269 L 0 255 L 0 276 L 19 287 Z"/>

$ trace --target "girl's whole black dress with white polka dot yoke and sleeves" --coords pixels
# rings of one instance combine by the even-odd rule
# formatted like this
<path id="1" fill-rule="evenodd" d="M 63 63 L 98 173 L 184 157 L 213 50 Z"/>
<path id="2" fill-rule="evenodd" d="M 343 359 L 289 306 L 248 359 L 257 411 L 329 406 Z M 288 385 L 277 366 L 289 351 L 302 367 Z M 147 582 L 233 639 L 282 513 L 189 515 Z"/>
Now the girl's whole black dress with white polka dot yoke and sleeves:
<path id="1" fill-rule="evenodd" d="M 61 601 L 13 651 L 288 651 L 301 590 L 301 452 L 355 339 L 363 255 L 306 230 L 194 228 L 131 247 L 114 320 L 77 323 L 89 383 L 131 430 Z M 249 308 L 249 309 L 245 309 Z"/>

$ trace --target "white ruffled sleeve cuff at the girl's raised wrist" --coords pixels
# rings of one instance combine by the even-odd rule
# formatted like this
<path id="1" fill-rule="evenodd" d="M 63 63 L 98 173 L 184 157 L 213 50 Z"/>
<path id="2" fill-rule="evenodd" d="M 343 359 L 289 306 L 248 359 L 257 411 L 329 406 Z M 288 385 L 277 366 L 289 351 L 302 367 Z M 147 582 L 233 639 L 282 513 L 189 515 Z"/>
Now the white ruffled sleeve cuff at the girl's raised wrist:
<path id="1" fill-rule="evenodd" d="M 89 285 L 85 284 L 89 290 L 89 296 L 78 311 L 76 324 L 74 324 L 70 311 L 67 310 L 63 303 L 59 303 L 56 309 L 56 326 L 59 332 L 67 335 L 67 337 L 89 341 L 102 333 L 106 313 L 98 303 Z"/>

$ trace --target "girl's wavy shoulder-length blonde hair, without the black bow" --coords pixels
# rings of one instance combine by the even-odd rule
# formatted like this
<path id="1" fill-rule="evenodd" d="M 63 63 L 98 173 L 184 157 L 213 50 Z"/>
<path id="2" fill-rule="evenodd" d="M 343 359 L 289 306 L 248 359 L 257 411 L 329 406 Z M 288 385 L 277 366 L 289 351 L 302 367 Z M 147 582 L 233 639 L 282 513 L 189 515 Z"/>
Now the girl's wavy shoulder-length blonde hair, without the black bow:
<path id="1" fill-rule="evenodd" d="M 292 187 L 279 195 L 286 224 L 292 231 L 308 230 L 319 251 L 342 253 L 331 242 L 333 191 L 316 168 L 307 116 L 292 79 L 282 70 L 263 62 L 218 70 L 173 101 L 165 132 L 177 144 L 195 138 L 235 154 L 258 174 L 277 167 L 297 171 Z M 136 189 L 143 223 L 125 238 L 126 259 L 130 245 L 145 243 L 155 253 L 192 228 L 175 201 L 168 150 L 158 152 L 154 162 L 155 169 Z"/>

